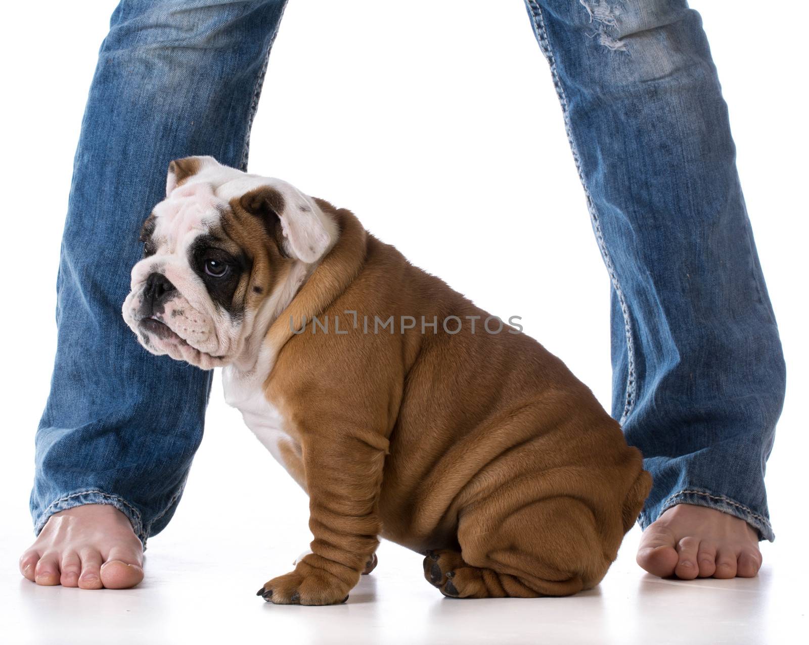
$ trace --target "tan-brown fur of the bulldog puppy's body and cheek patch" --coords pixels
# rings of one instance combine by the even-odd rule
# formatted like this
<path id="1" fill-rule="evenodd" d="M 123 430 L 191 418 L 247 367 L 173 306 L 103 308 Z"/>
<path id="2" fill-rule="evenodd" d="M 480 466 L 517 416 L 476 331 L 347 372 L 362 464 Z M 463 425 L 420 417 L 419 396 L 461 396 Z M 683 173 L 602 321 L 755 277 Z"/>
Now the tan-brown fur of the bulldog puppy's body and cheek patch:
<path id="1" fill-rule="evenodd" d="M 524 334 L 485 333 L 485 311 L 348 211 L 317 203 L 339 239 L 265 340 L 280 348 L 265 395 L 287 419 L 282 460 L 310 496 L 315 539 L 260 593 L 340 602 L 377 536 L 426 553 L 427 580 L 450 596 L 558 596 L 598 584 L 650 490 L 641 454 L 556 356 Z M 231 205 L 245 227 L 237 243 L 256 257 L 256 239 L 273 247 Z M 284 260 L 267 262 L 251 280 L 269 287 L 269 264 Z M 248 306 L 268 293 L 247 293 Z M 417 323 L 363 334 L 347 310 L 360 320 L 435 316 L 438 332 Z M 481 316 L 475 334 L 441 327 L 472 315 Z M 313 334 L 312 316 L 339 316 L 348 333 Z M 290 318 L 299 329 L 304 317 L 294 335 Z"/>

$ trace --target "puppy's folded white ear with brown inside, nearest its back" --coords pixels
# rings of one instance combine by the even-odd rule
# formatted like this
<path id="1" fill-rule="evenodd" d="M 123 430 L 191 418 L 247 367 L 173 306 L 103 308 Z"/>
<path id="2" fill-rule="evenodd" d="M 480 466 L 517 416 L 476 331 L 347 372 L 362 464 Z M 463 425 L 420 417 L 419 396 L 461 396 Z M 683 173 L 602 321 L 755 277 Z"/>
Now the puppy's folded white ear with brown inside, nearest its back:
<path id="1" fill-rule="evenodd" d="M 316 262 L 331 243 L 324 226 L 325 215 L 311 198 L 302 194 L 286 199 L 271 186 L 246 192 L 239 200 L 248 213 L 260 217 L 267 232 L 274 236 L 282 251 L 306 263 Z M 281 227 L 280 235 L 278 226 Z"/>

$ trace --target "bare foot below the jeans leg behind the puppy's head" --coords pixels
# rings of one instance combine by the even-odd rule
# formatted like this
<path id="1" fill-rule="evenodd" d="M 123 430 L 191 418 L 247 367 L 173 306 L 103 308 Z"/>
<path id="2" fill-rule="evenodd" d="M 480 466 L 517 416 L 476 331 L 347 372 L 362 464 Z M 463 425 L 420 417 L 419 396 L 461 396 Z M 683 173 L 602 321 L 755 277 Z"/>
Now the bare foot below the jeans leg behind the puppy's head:
<path id="1" fill-rule="evenodd" d="M 143 549 L 121 511 L 86 504 L 50 516 L 19 571 L 36 584 L 126 589 L 143 580 Z"/>

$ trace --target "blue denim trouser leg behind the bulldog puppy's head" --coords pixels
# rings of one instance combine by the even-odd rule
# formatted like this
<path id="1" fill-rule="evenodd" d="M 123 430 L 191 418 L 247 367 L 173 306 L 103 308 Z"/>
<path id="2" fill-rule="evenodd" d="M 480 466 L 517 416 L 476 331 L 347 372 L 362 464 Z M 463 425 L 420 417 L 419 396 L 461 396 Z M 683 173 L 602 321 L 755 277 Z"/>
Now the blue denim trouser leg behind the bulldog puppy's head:
<path id="1" fill-rule="evenodd" d="M 57 277 L 57 356 L 36 433 L 36 533 L 112 504 L 141 541 L 171 518 L 201 441 L 210 372 L 146 353 L 121 318 L 138 230 L 173 158 L 244 168 L 286 0 L 123 0 L 101 45 Z"/>

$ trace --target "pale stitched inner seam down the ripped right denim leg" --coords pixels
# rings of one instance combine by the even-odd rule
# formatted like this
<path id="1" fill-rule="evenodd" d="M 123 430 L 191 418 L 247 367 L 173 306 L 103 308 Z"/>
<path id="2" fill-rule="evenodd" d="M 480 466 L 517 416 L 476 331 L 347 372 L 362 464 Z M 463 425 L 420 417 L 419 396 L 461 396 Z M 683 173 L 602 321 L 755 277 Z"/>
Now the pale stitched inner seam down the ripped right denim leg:
<path id="1" fill-rule="evenodd" d="M 565 132 L 567 133 L 567 141 L 570 144 L 570 150 L 573 153 L 573 159 L 576 164 L 576 171 L 578 171 L 578 179 L 582 182 L 582 188 L 584 188 L 584 195 L 587 198 L 587 211 L 590 213 L 593 231 L 595 232 L 595 241 L 599 245 L 601 257 L 604 259 L 604 266 L 606 266 L 607 268 L 610 280 L 612 281 L 612 288 L 615 289 L 615 293 L 618 298 L 618 304 L 621 306 L 621 314 L 624 317 L 624 331 L 626 336 L 626 355 L 627 355 L 626 396 L 624 400 L 624 411 L 621 414 L 621 419 L 619 419 L 618 421 L 620 424 L 624 424 L 626 418 L 633 410 L 636 399 L 635 347 L 632 334 L 632 322 L 631 319 L 629 318 L 629 307 L 626 304 L 624 291 L 623 289 L 621 289 L 621 284 L 618 281 L 618 276 L 615 272 L 615 266 L 612 264 L 612 258 L 610 258 L 609 252 L 607 250 L 607 244 L 606 242 L 604 242 L 604 234 L 601 231 L 601 222 L 599 221 L 598 213 L 596 213 L 595 211 L 595 204 L 593 204 L 592 196 L 590 194 L 589 189 L 587 188 L 587 182 L 585 181 L 584 178 L 584 171 L 582 171 L 582 164 L 578 154 L 578 146 L 574 141 L 573 128 L 570 123 L 569 103 L 567 101 L 567 95 L 565 95 L 565 88 L 562 86 L 561 79 L 559 78 L 556 58 L 553 56 L 553 51 L 550 48 L 548 40 L 548 31 L 545 28 L 542 10 L 540 9 L 540 6 L 536 2 L 534 2 L 534 0 L 527 0 L 527 6 L 529 10 L 528 13 L 529 15 L 531 15 L 532 23 L 534 24 L 534 29 L 536 32 L 536 40 L 540 44 L 540 50 L 544 54 L 544 57 L 549 62 L 551 76 L 553 78 L 553 86 L 557 91 L 557 96 L 559 97 L 559 102 L 561 103 L 562 115 L 565 120 Z"/>

